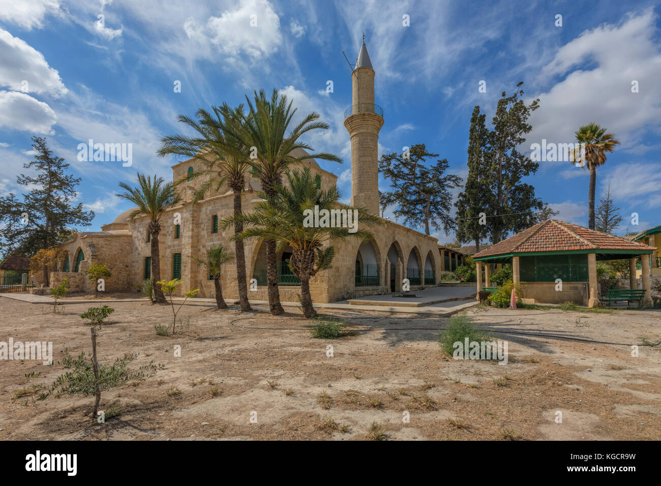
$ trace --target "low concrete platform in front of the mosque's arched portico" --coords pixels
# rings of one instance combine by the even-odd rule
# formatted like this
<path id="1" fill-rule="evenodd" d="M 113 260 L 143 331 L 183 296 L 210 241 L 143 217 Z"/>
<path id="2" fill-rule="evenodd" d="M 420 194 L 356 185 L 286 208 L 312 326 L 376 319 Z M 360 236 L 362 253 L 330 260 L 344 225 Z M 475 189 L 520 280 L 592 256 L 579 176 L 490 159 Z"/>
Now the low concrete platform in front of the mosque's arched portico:
<path id="1" fill-rule="evenodd" d="M 338 302 L 349 305 L 373 305 L 395 307 L 429 307 L 434 304 L 453 302 L 457 300 L 475 300 L 475 286 L 443 286 L 426 288 L 410 292 L 415 297 L 402 297 L 399 294 L 383 294 L 381 296 L 368 296 Z"/>

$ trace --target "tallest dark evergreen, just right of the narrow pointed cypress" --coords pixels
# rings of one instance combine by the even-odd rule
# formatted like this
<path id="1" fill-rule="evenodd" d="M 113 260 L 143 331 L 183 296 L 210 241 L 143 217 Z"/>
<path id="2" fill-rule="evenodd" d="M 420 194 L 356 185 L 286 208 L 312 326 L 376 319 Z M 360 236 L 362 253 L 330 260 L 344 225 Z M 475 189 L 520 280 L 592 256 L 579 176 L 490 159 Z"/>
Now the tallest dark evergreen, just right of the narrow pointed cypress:
<path id="1" fill-rule="evenodd" d="M 539 99 L 525 104 L 519 98 L 524 94 L 519 89 L 522 84 L 518 83 L 518 91 L 509 97 L 503 91 L 488 137 L 494 202 L 487 216 L 492 243 L 498 243 L 510 231 L 518 233 L 533 225 L 537 212 L 543 209 L 541 199 L 535 197 L 535 188 L 522 182 L 539 168 L 538 163 L 517 149 L 532 130 L 527 122 L 530 114 L 539 108 Z"/>

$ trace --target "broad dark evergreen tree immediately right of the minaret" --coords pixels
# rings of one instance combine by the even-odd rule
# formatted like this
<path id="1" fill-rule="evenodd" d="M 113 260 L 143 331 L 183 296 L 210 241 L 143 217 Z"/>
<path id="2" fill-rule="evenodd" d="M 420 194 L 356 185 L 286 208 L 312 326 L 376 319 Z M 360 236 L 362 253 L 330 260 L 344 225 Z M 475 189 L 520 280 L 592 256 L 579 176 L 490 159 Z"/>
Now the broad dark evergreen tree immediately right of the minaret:
<path id="1" fill-rule="evenodd" d="M 379 171 L 391 181 L 391 192 L 385 195 L 399 208 L 397 218 L 404 218 L 404 224 L 424 227 L 424 233 L 434 229 L 454 227 L 449 216 L 452 205 L 451 189 L 459 187 L 461 177 L 446 174 L 447 159 L 437 160 L 435 165 L 425 165 L 428 157 L 438 157 L 438 153 L 427 151 L 424 143 L 412 145 L 408 153 L 387 153 L 379 159 Z"/>

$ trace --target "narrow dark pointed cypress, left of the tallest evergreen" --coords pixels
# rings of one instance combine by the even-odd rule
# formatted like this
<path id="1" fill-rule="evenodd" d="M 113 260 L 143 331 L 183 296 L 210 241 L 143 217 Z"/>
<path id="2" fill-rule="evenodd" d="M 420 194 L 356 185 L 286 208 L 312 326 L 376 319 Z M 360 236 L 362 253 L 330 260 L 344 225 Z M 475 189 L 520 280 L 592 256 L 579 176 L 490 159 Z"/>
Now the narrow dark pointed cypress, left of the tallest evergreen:
<path id="1" fill-rule="evenodd" d="M 490 152 L 488 151 L 488 130 L 485 115 L 480 107 L 473 108 L 471 130 L 468 142 L 468 177 L 464 190 L 457 196 L 457 240 L 462 243 L 475 241 L 475 249 L 480 251 L 480 241 L 488 236 L 486 214 L 493 206 L 490 188 Z M 484 218 L 480 217 L 484 213 Z"/>

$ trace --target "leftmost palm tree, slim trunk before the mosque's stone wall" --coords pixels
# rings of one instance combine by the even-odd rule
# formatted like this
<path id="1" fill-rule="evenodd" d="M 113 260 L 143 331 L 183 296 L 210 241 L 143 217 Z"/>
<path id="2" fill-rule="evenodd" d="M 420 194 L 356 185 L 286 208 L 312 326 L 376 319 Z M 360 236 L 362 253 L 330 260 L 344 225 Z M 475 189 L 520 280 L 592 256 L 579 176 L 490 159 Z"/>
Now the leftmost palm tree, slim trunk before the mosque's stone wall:
<path id="1" fill-rule="evenodd" d="M 151 179 L 151 176 L 137 174 L 137 187 L 131 187 L 125 182 L 120 182 L 120 187 L 126 192 L 117 194 L 119 198 L 126 199 L 137 206 L 129 215 L 133 220 L 136 216 L 144 215 L 149 218 L 147 231 L 151 235 L 151 278 L 154 282 L 161 280 L 161 264 L 159 257 L 159 233 L 161 233 L 161 216 L 166 210 L 179 202 L 179 194 L 175 190 L 175 184 L 168 182 L 164 184 L 163 177 Z M 154 302 L 162 304 L 167 302 L 163 295 L 161 286 L 154 284 Z"/>

